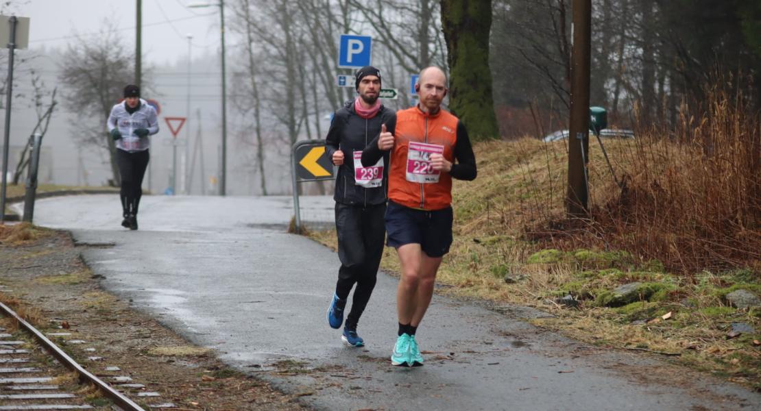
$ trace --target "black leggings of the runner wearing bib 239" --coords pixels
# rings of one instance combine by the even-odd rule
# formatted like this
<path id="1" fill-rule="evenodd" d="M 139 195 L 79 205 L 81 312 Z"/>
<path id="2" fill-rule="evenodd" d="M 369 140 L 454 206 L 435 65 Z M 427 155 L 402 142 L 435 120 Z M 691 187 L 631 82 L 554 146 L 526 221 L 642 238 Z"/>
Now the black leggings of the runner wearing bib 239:
<path id="1" fill-rule="evenodd" d="M 352 311 L 346 317 L 347 327 L 357 326 L 375 288 L 386 238 L 385 213 L 386 204 L 361 207 L 336 203 L 338 257 L 341 260 L 336 296 L 346 299 L 357 284 Z"/>

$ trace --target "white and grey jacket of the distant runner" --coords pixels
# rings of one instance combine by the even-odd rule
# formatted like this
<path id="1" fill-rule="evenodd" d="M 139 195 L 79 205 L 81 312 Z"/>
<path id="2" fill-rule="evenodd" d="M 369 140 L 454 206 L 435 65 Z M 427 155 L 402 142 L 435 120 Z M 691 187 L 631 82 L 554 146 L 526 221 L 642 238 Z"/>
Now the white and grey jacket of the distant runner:
<path id="1" fill-rule="evenodd" d="M 147 128 L 148 135 L 158 133 L 156 109 L 149 105 L 147 101 L 140 99 L 139 109 L 129 114 L 125 105 L 126 101 L 114 105 L 106 122 L 108 131 L 118 127 L 119 133 L 122 134 L 122 138 L 116 141 L 116 148 L 129 152 L 148 150 L 148 147 L 151 146 L 151 141 L 148 138 L 139 138 L 135 135 L 135 130 Z"/>

